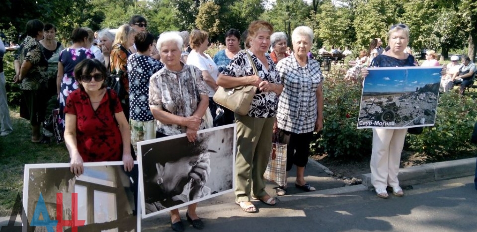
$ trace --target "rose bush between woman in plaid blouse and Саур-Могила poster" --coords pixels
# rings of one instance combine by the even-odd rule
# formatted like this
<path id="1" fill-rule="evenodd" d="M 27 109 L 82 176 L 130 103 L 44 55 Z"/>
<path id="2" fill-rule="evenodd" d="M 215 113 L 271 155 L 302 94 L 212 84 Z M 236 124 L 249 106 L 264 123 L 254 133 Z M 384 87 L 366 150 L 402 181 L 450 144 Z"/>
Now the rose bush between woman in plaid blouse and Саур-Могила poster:
<path id="1" fill-rule="evenodd" d="M 323 130 L 311 145 L 315 153 L 327 153 L 339 159 L 370 155 L 373 137 L 370 129 L 356 129 L 362 82 L 345 80 L 345 72 L 332 66 L 331 72 L 325 75 Z"/>

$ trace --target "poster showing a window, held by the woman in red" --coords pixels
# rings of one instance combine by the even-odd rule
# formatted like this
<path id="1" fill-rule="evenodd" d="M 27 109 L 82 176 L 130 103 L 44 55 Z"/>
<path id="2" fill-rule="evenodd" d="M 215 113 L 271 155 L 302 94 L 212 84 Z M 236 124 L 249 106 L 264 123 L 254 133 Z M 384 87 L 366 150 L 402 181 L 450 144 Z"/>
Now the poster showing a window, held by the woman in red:
<path id="1" fill-rule="evenodd" d="M 75 176 L 69 163 L 25 165 L 23 207 L 29 226 L 23 227 L 23 231 L 50 231 L 35 225 L 48 220 L 48 216 L 50 220 L 59 221 L 57 209 L 62 209 L 62 220 L 82 221 L 78 232 L 141 231 L 132 178 L 124 171 L 123 162 L 88 162 L 83 166 L 83 174 Z M 62 193 L 62 198 L 57 199 L 57 193 Z M 76 203 L 72 193 L 77 193 Z M 60 202 L 62 204 L 57 205 Z M 33 216 L 38 217 L 37 223 Z M 57 231 L 56 226 L 54 229 Z M 69 232 L 72 228 L 63 227 L 63 231 Z"/>

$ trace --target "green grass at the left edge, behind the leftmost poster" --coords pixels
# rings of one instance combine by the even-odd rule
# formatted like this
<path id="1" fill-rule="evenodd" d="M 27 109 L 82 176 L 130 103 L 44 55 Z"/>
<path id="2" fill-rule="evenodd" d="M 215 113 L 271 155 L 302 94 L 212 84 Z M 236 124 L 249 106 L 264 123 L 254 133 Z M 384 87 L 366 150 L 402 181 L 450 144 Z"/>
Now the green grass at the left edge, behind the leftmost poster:
<path id="1" fill-rule="evenodd" d="M 20 118 L 18 109 L 10 109 L 13 132 L 0 137 L 0 216 L 9 216 L 19 193 L 23 198 L 24 165 L 30 163 L 64 163 L 70 157 L 65 144 L 31 142 L 29 121 Z"/>

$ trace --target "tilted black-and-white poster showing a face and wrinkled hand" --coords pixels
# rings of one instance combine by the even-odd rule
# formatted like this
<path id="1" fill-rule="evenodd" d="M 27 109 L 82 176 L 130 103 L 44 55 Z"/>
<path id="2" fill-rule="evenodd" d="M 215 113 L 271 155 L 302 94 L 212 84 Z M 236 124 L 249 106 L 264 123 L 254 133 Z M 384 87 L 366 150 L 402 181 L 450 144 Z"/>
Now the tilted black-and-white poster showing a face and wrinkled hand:
<path id="1" fill-rule="evenodd" d="M 138 143 L 143 218 L 234 191 L 236 125 Z"/>

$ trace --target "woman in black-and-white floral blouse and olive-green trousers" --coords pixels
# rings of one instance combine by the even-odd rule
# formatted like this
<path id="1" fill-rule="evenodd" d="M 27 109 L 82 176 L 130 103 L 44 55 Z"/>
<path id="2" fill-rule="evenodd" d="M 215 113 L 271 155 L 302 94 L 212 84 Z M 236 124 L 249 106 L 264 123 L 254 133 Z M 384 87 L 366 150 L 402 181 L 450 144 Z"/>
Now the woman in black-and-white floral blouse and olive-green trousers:
<path id="1" fill-rule="evenodd" d="M 266 55 L 272 33 L 273 26 L 267 21 L 258 20 L 250 23 L 245 41 L 250 48 L 246 52 L 240 51 L 217 79 L 217 84 L 225 88 L 240 85 L 258 86 L 248 115 L 235 114 L 238 149 L 235 163 L 236 203 L 248 213 L 257 212 L 250 202 L 250 191 L 252 191 L 252 197 L 258 198 L 265 204 L 275 205 L 276 203 L 275 199 L 265 191 L 263 180 L 272 147 L 272 130 L 278 95 L 283 90 L 283 85 L 275 71 L 275 64 L 270 56 Z M 247 52 L 257 68 L 256 74 L 253 72 Z"/>

